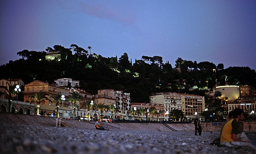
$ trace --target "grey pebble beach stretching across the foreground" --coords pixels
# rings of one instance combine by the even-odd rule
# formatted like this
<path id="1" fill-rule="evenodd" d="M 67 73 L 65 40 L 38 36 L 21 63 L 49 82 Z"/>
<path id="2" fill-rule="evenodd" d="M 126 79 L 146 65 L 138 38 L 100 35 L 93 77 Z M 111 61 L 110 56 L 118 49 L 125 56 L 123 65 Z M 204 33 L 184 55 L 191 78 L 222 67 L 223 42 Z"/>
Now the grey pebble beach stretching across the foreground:
<path id="1" fill-rule="evenodd" d="M 203 132 L 202 136 L 195 136 L 192 131 L 101 131 L 93 127 L 33 126 L 33 121 L 30 121 L 31 125 L 15 124 L 0 118 L 2 154 L 255 153 L 248 147 L 235 149 L 210 145 L 219 132 Z"/>

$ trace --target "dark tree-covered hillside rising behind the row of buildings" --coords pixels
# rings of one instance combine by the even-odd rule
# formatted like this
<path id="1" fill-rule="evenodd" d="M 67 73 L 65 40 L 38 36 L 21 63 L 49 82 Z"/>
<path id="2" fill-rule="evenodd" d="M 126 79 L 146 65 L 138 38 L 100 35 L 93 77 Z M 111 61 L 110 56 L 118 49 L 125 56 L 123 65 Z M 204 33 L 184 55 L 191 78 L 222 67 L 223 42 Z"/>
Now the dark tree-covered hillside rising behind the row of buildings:
<path id="1" fill-rule="evenodd" d="M 229 67 L 222 63 L 186 61 L 177 58 L 175 68 L 162 57 L 142 56 L 129 61 L 127 53 L 120 58 L 102 57 L 72 44 L 70 48 L 55 45 L 47 52 L 59 51 L 61 60 L 45 60 L 45 51 L 23 50 L 16 61 L 0 66 L 0 78 L 22 78 L 25 84 L 33 80 L 49 82 L 59 78 L 80 80 L 80 88 L 97 94 L 99 89 L 115 89 L 131 94 L 132 102 L 149 102 L 154 92 L 179 92 L 205 96 L 204 88 L 212 90 L 215 83 L 251 85 L 256 87 L 255 70 L 249 67 Z M 75 54 L 72 54 L 72 51 Z M 213 71 L 215 69 L 215 72 Z M 194 90 L 192 90 L 192 88 Z"/>

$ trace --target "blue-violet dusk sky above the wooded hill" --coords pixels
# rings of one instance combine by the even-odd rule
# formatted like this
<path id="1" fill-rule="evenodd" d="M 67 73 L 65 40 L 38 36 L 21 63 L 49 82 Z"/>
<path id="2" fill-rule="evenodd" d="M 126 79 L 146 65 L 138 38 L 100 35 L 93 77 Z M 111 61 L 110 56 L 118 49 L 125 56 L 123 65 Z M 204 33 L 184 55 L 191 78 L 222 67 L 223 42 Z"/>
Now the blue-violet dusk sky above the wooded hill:
<path id="1" fill-rule="evenodd" d="M 1 0 L 0 65 L 76 44 L 103 57 L 256 69 L 255 0 Z"/>

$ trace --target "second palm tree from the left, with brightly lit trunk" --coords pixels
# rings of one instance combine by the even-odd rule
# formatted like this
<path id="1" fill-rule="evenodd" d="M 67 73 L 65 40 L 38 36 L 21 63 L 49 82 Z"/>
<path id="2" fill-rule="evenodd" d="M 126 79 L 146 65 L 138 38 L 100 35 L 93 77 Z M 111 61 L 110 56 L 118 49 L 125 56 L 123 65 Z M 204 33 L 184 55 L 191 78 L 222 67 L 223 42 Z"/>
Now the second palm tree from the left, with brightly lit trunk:
<path id="1" fill-rule="evenodd" d="M 37 115 L 39 115 L 39 107 L 40 104 L 44 101 L 44 100 L 49 100 L 48 97 L 49 96 L 47 93 L 39 91 L 39 93 L 34 93 L 34 95 L 30 95 L 29 97 L 31 97 L 31 99 L 33 99 L 30 104 L 32 103 L 37 103 Z M 49 100 L 50 102 L 52 102 L 51 100 Z"/>

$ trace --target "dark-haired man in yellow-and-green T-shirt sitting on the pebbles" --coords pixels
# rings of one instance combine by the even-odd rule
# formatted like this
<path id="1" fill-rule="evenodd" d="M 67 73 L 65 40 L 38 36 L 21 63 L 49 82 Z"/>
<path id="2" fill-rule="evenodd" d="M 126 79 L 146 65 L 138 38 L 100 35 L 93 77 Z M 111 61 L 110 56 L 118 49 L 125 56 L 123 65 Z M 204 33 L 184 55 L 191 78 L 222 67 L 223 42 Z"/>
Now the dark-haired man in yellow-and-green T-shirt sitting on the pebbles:
<path id="1" fill-rule="evenodd" d="M 256 150 L 256 147 L 250 143 L 244 133 L 241 134 L 240 138 L 247 138 L 247 140 L 241 140 L 237 137 L 239 128 L 238 122 L 244 119 L 244 111 L 238 108 L 234 109 L 233 118 L 234 119 L 229 120 L 222 129 L 221 145 L 228 147 L 251 147 L 252 149 Z"/>

